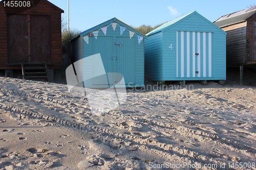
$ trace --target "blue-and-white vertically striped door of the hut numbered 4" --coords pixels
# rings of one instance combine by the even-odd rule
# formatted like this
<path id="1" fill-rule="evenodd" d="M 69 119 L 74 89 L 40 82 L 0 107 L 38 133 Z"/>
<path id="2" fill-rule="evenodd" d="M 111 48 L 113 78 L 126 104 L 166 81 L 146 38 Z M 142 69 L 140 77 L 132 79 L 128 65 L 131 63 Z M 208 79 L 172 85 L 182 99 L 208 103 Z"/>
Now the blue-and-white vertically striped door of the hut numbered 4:
<path id="1" fill-rule="evenodd" d="M 212 33 L 176 32 L 176 77 L 212 77 Z"/>

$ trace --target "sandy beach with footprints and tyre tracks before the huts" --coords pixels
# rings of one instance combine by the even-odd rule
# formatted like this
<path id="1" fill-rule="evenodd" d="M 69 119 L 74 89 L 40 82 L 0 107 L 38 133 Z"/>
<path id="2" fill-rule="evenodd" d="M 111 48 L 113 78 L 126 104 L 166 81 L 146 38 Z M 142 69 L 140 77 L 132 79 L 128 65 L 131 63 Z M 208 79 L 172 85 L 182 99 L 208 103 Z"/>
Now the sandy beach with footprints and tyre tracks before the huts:
<path id="1" fill-rule="evenodd" d="M 130 91 L 126 103 L 95 116 L 86 96 L 74 96 L 67 85 L 0 77 L 0 169 L 230 169 L 236 162 L 243 169 L 255 163 L 256 88 L 191 85 Z M 194 167 L 181 167 L 184 162 Z"/>

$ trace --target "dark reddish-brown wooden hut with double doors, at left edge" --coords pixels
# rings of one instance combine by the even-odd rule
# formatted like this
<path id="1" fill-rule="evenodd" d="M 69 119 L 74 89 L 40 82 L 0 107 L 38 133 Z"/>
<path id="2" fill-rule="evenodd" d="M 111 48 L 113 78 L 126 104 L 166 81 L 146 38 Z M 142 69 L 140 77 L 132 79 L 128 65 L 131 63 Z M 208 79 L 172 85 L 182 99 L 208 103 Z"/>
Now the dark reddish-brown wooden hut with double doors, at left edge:
<path id="1" fill-rule="evenodd" d="M 0 2 L 0 69 L 6 75 L 22 63 L 61 67 L 61 13 L 47 0 Z"/>

